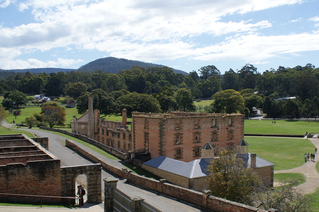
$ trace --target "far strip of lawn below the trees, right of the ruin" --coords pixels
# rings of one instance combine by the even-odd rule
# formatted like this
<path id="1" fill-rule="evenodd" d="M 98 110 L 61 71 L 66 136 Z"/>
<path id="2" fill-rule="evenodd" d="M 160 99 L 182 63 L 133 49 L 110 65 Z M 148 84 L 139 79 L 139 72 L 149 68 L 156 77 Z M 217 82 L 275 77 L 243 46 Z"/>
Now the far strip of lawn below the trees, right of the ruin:
<path id="1" fill-rule="evenodd" d="M 276 120 L 245 120 L 244 133 L 246 134 L 276 134 L 276 135 L 303 135 L 306 132 L 318 132 L 319 122 Z"/>

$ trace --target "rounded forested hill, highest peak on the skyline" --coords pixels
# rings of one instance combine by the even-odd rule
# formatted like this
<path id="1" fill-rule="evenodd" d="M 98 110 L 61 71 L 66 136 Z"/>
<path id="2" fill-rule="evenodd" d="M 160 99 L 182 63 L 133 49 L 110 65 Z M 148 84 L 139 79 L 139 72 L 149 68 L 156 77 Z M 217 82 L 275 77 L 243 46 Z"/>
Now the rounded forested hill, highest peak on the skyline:
<path id="1" fill-rule="evenodd" d="M 97 60 L 94 60 L 86 65 L 81 66 L 77 71 L 97 71 L 102 70 L 103 72 L 108 73 L 117 73 L 119 70 L 127 70 L 132 67 L 132 65 L 139 65 L 143 66 L 145 68 L 148 67 L 164 67 L 165 65 L 158 65 L 153 63 L 145 63 L 138 60 L 128 60 L 123 58 L 114 58 L 114 57 L 108 57 L 108 58 L 100 58 Z M 184 75 L 188 75 L 187 72 L 176 70 L 173 68 L 174 73 L 181 73 Z"/>

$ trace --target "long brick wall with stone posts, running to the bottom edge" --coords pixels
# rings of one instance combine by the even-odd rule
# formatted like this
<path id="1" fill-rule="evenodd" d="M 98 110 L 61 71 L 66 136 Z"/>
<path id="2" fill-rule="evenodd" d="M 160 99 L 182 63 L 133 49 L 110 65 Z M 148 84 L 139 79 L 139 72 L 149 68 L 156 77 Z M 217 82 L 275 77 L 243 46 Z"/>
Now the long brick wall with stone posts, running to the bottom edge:
<path id="1" fill-rule="evenodd" d="M 101 159 L 93 156 L 92 154 L 86 152 L 82 148 L 78 147 L 72 141 L 66 139 L 66 146 L 71 148 L 77 148 L 77 151 L 87 157 L 88 159 L 94 161 L 95 163 L 100 163 L 103 168 L 108 169 L 109 172 L 112 172 L 128 181 L 138 184 L 144 188 L 148 188 L 159 193 L 169 195 L 187 202 L 194 203 L 196 205 L 200 205 L 204 208 L 208 208 L 215 212 L 226 212 L 226 211 L 237 211 L 237 212 L 267 212 L 263 209 L 257 209 L 254 207 L 250 207 L 248 205 L 240 204 L 237 202 L 232 202 L 229 200 L 225 200 L 222 198 L 209 196 L 206 198 L 201 192 L 194 191 L 187 188 L 182 188 L 180 186 L 175 186 L 170 183 L 166 183 L 165 179 L 161 180 L 153 180 L 147 178 L 145 176 L 140 176 L 138 174 L 132 173 L 131 170 L 127 170 L 126 168 L 118 168 L 112 165 L 108 165 L 107 163 L 101 161 Z"/>

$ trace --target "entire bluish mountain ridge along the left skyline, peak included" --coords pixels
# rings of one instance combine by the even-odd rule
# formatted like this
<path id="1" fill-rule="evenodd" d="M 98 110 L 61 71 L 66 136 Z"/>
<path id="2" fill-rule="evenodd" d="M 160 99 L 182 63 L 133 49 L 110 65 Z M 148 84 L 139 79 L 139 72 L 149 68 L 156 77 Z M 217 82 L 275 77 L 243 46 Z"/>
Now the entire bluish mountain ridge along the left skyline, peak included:
<path id="1" fill-rule="evenodd" d="M 57 72 L 71 72 L 71 71 L 78 71 L 78 72 L 90 72 L 90 71 L 97 71 L 97 70 L 102 70 L 103 72 L 108 72 L 108 73 L 117 73 L 119 70 L 126 70 L 130 69 L 132 65 L 140 65 L 143 67 L 154 67 L 154 66 L 159 66 L 159 67 L 164 67 L 165 65 L 158 65 L 158 64 L 153 64 L 153 63 L 145 63 L 141 62 L 138 60 L 128 60 L 124 58 L 114 58 L 114 57 L 107 57 L 107 58 L 100 58 L 96 59 L 92 62 L 89 62 L 86 65 L 82 65 L 78 69 L 65 69 L 65 68 L 28 68 L 28 69 L 11 69 L 11 70 L 3 70 L 0 69 L 0 78 L 3 78 L 7 75 L 14 74 L 14 72 L 18 73 L 24 73 L 24 72 L 30 72 L 30 73 L 57 73 Z M 184 75 L 188 75 L 187 72 L 177 70 L 173 68 L 174 73 L 181 73 Z M 6 73 L 9 72 L 9 73 Z"/>

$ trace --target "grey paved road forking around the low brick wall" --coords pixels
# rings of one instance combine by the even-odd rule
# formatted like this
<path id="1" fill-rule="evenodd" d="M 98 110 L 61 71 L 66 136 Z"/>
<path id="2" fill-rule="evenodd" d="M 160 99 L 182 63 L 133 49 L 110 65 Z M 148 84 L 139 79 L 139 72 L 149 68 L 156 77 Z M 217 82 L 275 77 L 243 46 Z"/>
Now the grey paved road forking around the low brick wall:
<path id="1" fill-rule="evenodd" d="M 5 123 L 4 126 L 10 127 L 11 124 Z M 39 130 L 37 128 L 32 128 L 32 129 L 21 128 L 21 133 L 23 133 L 23 131 L 35 133 L 39 137 L 48 137 L 49 138 L 49 151 L 61 160 L 61 166 L 76 166 L 76 165 L 85 165 L 85 164 L 92 164 L 93 163 L 92 161 L 88 161 L 87 159 L 83 158 L 82 156 L 75 154 L 72 149 L 65 147 L 64 146 L 65 138 L 63 136 L 56 135 L 54 133 L 51 133 L 50 131 Z M 112 164 L 112 165 L 120 167 L 120 168 L 124 168 L 124 166 L 122 165 L 122 161 L 120 161 L 120 160 L 115 161 L 115 160 L 109 159 L 109 158 L 107 158 L 99 153 L 96 153 L 92 149 L 89 149 L 88 147 L 85 147 L 85 146 L 79 144 L 75 140 L 72 140 L 72 141 L 77 143 L 79 146 L 81 146 L 81 148 L 86 149 L 88 152 L 91 152 L 92 154 L 94 154 L 98 158 L 102 159 L 106 163 Z M 102 179 L 107 178 L 109 176 L 114 176 L 114 177 L 118 178 L 117 175 L 113 175 L 112 173 L 108 173 L 106 170 L 102 170 Z M 193 207 L 193 205 L 191 205 L 191 204 L 188 205 L 188 204 L 183 203 L 183 202 L 175 201 L 175 199 L 168 198 L 166 196 L 163 196 L 163 195 L 160 195 L 157 193 L 153 193 L 151 191 L 147 191 L 147 190 L 142 189 L 142 188 L 138 188 L 134 185 L 126 183 L 125 180 L 121 179 L 121 178 L 118 181 L 117 188 L 119 188 L 120 190 L 122 190 L 124 193 L 126 193 L 127 195 L 129 195 L 131 197 L 140 196 L 143 199 L 145 199 L 146 202 L 150 203 L 154 207 L 156 207 L 162 211 L 165 211 L 165 212 L 166 211 L 174 211 L 174 212 L 205 211 L 203 209 L 197 209 L 197 208 L 195 208 L 195 206 Z M 102 195 L 103 195 L 102 200 L 104 200 L 104 181 L 103 180 L 102 180 Z M 99 211 L 102 212 L 103 207 L 104 207 L 104 205 L 100 204 L 99 209 L 95 208 L 94 212 L 99 212 Z M 0 211 L 5 211 L 5 212 L 12 211 L 12 210 L 9 210 L 9 208 L 2 208 L 1 206 L 0 206 L 0 208 L 1 208 Z M 34 209 L 34 210 L 38 210 L 38 209 Z M 43 210 L 43 209 L 41 209 L 41 210 Z M 53 209 L 48 209 L 48 210 L 52 211 Z M 14 211 L 18 211 L 18 210 L 14 210 Z M 32 211 L 32 210 L 30 209 L 28 211 Z M 61 209 L 56 209 L 56 211 L 61 211 Z"/>

